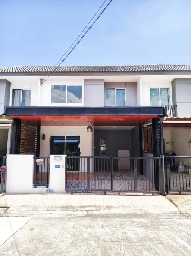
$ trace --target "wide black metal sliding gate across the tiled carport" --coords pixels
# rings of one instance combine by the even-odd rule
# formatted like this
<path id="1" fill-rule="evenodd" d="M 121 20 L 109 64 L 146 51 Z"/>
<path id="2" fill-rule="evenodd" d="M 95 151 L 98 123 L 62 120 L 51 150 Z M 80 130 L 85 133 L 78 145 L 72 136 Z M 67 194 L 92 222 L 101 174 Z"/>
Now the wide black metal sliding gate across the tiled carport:
<path id="1" fill-rule="evenodd" d="M 162 157 L 66 157 L 65 188 L 71 192 L 165 191 Z"/>

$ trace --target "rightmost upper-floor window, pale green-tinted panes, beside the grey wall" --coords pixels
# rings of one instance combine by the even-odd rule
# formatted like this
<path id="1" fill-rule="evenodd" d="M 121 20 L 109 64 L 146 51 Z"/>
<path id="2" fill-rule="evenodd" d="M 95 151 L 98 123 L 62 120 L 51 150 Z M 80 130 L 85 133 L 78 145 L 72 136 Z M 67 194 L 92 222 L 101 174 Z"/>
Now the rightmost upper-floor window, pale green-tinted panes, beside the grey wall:
<path id="1" fill-rule="evenodd" d="M 150 88 L 151 106 L 169 106 L 169 88 Z"/>

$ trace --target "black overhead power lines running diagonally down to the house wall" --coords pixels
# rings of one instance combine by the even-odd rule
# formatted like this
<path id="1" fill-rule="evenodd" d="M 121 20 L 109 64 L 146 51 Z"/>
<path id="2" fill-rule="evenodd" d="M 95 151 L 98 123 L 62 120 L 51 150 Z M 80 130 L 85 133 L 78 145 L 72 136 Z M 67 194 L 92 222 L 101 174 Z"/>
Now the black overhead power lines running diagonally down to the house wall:
<path id="1" fill-rule="evenodd" d="M 99 10 L 101 9 L 101 7 L 104 5 L 104 3 L 107 0 L 105 0 L 103 2 L 103 4 L 100 6 L 100 8 L 97 10 L 97 12 L 95 13 L 95 15 L 93 16 L 93 18 L 97 15 L 97 13 L 99 12 Z M 63 56 L 60 58 L 60 60 L 62 60 L 62 58 L 66 55 L 66 53 L 69 51 L 69 49 L 71 49 L 71 47 L 74 45 L 74 43 L 78 40 L 78 38 L 81 36 L 81 34 L 84 32 L 84 34 L 80 37 L 80 39 L 76 42 L 76 44 L 72 47 L 72 49 L 68 52 L 68 54 L 66 55 L 66 57 L 60 62 L 60 64 L 58 66 L 56 66 L 59 61 L 56 63 L 56 67 L 53 71 L 48 72 L 47 74 L 47 78 L 43 79 L 41 81 L 41 85 L 57 70 L 57 68 L 63 63 L 63 61 L 66 60 L 66 58 L 71 54 L 71 52 L 73 51 L 73 49 L 76 48 L 76 46 L 78 45 L 78 43 L 83 39 L 83 37 L 88 33 L 88 31 L 90 30 L 90 28 L 95 24 L 95 22 L 98 20 L 98 18 L 102 15 L 102 13 L 106 10 L 106 8 L 109 6 L 109 4 L 112 2 L 112 0 L 109 1 L 109 3 L 106 5 L 106 7 L 104 7 L 104 9 L 101 11 L 101 13 L 97 16 L 97 18 L 94 20 L 94 22 L 90 25 L 90 27 L 84 32 L 84 30 L 88 27 L 88 25 L 90 24 L 90 22 L 93 20 L 93 18 L 91 18 L 91 20 L 88 22 L 88 24 L 86 25 L 86 27 L 82 30 L 82 32 L 79 34 L 79 36 L 75 39 L 75 41 L 72 43 L 72 45 L 68 48 L 68 50 L 63 54 Z M 46 77 L 46 76 L 45 76 Z"/>

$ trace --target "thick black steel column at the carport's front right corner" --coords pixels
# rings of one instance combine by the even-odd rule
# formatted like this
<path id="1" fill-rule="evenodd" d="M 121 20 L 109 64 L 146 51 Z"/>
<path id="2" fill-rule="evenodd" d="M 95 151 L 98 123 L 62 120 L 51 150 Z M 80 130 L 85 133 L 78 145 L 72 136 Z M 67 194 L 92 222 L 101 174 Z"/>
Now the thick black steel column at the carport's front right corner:
<path id="1" fill-rule="evenodd" d="M 160 144 L 159 144 L 159 119 L 152 120 L 153 129 L 153 156 L 160 157 Z M 159 160 L 154 159 L 154 181 L 155 188 L 159 191 Z"/>

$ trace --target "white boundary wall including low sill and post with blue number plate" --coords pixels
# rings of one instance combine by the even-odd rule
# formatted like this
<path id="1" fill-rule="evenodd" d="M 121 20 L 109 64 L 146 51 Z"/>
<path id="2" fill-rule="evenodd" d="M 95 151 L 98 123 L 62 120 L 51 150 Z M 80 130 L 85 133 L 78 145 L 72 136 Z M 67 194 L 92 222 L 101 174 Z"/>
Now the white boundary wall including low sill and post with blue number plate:
<path id="1" fill-rule="evenodd" d="M 65 192 L 65 156 L 61 161 L 55 161 L 50 156 L 50 190 L 54 193 Z M 55 165 L 60 165 L 56 168 Z M 7 156 L 7 194 L 17 193 L 47 193 L 47 188 L 38 186 L 33 188 L 34 155 Z"/>

